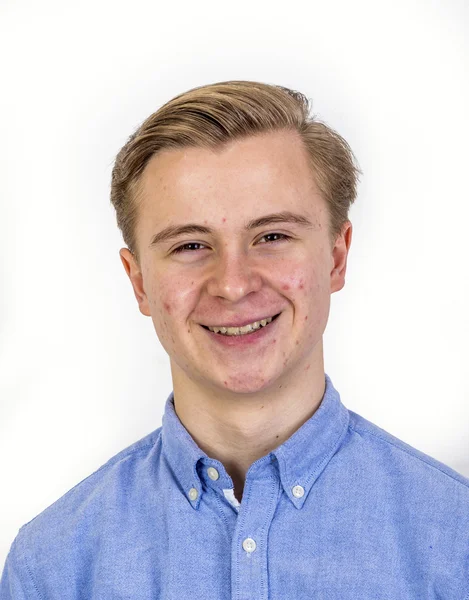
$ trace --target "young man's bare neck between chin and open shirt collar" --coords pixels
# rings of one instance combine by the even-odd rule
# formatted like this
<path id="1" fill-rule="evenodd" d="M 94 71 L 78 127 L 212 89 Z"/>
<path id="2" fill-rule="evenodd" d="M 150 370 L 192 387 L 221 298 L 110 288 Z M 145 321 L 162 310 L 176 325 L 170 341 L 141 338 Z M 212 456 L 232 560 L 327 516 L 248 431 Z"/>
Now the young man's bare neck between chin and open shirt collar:
<path id="1" fill-rule="evenodd" d="M 224 465 L 239 501 L 251 464 L 283 444 L 318 409 L 325 389 L 322 341 L 308 365 L 259 392 L 239 394 L 209 389 L 171 362 L 176 414 L 199 448 Z"/>

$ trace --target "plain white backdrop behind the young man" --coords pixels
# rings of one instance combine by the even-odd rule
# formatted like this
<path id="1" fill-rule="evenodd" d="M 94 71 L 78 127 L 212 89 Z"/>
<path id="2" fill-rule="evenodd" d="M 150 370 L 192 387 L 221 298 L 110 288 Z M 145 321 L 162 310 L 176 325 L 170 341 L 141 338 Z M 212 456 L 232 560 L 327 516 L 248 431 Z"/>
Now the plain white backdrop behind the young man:
<path id="1" fill-rule="evenodd" d="M 19 527 L 161 425 L 169 360 L 109 202 L 114 157 L 192 87 L 305 93 L 363 170 L 326 372 L 469 476 L 465 0 L 0 3 L 0 568 Z"/>

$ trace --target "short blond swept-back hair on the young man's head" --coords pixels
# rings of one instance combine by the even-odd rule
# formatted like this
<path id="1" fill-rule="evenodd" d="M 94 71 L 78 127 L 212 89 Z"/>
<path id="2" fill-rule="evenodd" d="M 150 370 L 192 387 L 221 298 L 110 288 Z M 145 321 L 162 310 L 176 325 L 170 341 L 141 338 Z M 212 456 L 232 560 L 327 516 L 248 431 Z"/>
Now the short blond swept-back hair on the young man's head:
<path id="1" fill-rule="evenodd" d="M 280 130 L 297 131 L 303 140 L 329 208 L 333 244 L 348 220 L 361 171 L 348 143 L 310 115 L 310 108 L 306 96 L 282 86 L 226 81 L 180 94 L 150 115 L 117 154 L 111 178 L 117 225 L 137 264 L 139 184 L 151 157 L 189 146 L 215 149 L 231 140 Z"/>

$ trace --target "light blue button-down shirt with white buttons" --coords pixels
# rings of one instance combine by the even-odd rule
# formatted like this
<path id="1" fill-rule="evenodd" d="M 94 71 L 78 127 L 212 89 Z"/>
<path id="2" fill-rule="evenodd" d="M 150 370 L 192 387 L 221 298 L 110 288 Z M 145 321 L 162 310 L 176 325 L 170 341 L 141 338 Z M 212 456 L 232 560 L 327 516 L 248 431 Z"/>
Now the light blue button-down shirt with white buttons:
<path id="1" fill-rule="evenodd" d="M 170 395 L 162 427 L 20 529 L 0 598 L 468 600 L 469 480 L 348 410 L 326 375 L 239 504 Z"/>

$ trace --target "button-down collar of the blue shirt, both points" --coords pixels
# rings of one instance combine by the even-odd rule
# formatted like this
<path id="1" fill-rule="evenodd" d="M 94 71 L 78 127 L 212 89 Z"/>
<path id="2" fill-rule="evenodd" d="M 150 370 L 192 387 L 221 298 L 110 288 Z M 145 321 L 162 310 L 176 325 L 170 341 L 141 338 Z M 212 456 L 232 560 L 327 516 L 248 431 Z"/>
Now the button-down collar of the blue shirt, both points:
<path id="1" fill-rule="evenodd" d="M 349 412 L 342 404 L 331 379 L 325 374 L 324 395 L 316 412 L 268 455 L 274 468 L 277 468 L 285 494 L 296 508 L 302 508 L 314 482 L 340 447 L 348 422 Z M 201 474 L 206 469 L 203 469 L 203 466 L 213 466 L 219 472 L 220 477 L 217 481 L 208 479 L 210 485 L 220 489 L 231 487 L 222 463 L 210 458 L 201 450 L 181 423 L 174 408 L 173 392 L 165 404 L 162 445 L 181 492 L 193 508 L 199 507 L 204 491 Z M 299 498 L 293 495 L 292 490 L 295 486 L 301 486 L 304 490 L 304 494 Z M 197 494 L 194 493 L 194 489 L 197 490 Z"/>

